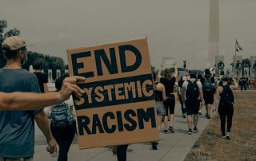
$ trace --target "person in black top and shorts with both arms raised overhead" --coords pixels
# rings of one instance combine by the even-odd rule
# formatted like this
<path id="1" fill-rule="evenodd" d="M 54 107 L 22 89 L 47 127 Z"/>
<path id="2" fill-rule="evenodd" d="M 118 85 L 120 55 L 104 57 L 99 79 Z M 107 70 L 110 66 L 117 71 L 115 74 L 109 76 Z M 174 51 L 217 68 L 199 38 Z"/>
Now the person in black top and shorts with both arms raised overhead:
<path id="1" fill-rule="evenodd" d="M 174 63 L 174 69 L 175 69 L 175 73 L 173 76 L 172 76 L 172 73 L 170 72 L 170 69 L 165 69 L 164 77 L 160 79 L 160 82 L 164 84 L 166 88 L 166 97 L 167 97 L 166 101 L 164 101 L 164 105 L 166 108 L 164 133 L 168 133 L 168 132 L 174 133 L 174 128 L 173 128 L 174 107 L 175 107 L 174 84 L 176 81 L 176 77 L 178 77 L 178 69 L 177 69 L 176 63 Z M 159 72 L 161 72 L 161 70 Z M 168 124 L 167 119 L 170 120 L 170 124 Z"/>

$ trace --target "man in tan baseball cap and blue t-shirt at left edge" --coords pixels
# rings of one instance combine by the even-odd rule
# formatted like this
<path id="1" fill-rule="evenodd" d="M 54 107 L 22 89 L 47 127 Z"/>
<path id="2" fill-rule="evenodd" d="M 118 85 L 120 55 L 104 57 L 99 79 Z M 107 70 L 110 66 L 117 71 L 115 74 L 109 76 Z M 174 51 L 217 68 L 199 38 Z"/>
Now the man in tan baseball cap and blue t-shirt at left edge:
<path id="1" fill-rule="evenodd" d="M 7 64 L 0 69 L 0 92 L 40 92 L 37 77 L 25 69 L 26 42 L 21 37 L 7 37 L 2 42 Z M 3 79 L 2 79 L 3 78 Z M 38 103 L 39 104 L 39 103 Z M 48 118 L 42 109 L 0 111 L 0 160 L 33 160 L 34 120 L 46 136 L 47 151 L 57 151 Z"/>

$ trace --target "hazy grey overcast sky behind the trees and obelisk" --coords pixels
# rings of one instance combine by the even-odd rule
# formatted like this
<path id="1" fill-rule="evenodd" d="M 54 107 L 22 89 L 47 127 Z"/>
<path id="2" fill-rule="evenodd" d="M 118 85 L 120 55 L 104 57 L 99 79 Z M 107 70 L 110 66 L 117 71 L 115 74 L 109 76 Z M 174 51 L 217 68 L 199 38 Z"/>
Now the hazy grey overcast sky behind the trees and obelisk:
<path id="1" fill-rule="evenodd" d="M 256 0 L 220 0 L 220 54 L 229 66 L 237 37 L 243 57 L 256 55 Z M 209 0 L 0 0 L 0 19 L 30 50 L 62 57 L 66 49 L 148 37 L 151 64 L 186 59 L 204 69 Z M 67 62 L 67 61 L 66 61 Z"/>

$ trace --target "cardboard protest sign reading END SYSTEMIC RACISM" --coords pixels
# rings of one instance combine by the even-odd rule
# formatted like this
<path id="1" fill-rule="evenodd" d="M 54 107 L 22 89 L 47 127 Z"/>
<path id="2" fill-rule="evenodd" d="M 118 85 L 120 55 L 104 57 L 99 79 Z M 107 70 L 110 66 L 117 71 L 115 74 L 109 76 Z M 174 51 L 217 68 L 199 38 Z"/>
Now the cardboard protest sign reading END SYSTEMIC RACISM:
<path id="1" fill-rule="evenodd" d="M 146 38 L 67 53 L 70 76 L 86 77 L 74 97 L 80 148 L 160 139 Z"/>

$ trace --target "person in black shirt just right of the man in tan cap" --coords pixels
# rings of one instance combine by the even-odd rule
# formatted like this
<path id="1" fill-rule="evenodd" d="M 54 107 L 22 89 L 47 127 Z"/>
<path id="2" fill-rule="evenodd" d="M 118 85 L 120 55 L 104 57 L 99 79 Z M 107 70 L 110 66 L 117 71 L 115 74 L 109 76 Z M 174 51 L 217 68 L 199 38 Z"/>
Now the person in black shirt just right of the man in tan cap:
<path id="1" fill-rule="evenodd" d="M 34 69 L 34 74 L 38 78 L 38 83 L 39 83 L 41 92 L 49 92 L 47 87 L 48 79 L 46 75 L 42 73 L 42 63 L 40 61 L 34 61 L 33 69 Z"/>

